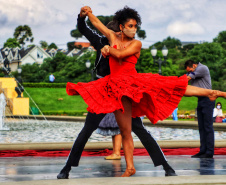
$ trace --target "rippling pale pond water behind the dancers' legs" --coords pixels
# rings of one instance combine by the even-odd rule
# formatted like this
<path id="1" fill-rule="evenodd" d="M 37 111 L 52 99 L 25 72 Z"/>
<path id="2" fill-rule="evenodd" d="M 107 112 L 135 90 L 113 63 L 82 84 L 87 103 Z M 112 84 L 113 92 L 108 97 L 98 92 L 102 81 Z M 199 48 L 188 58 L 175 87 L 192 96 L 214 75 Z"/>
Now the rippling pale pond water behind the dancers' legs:
<path id="1" fill-rule="evenodd" d="M 74 142 L 84 122 L 6 120 L 8 130 L 0 130 L 0 143 Z M 198 130 L 146 126 L 156 140 L 199 140 Z M 134 141 L 137 136 L 132 133 Z M 215 131 L 215 139 L 226 139 L 226 132 Z M 94 132 L 89 142 L 111 141 L 111 136 Z"/>

